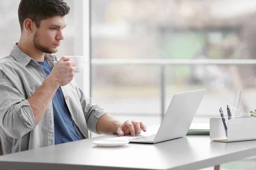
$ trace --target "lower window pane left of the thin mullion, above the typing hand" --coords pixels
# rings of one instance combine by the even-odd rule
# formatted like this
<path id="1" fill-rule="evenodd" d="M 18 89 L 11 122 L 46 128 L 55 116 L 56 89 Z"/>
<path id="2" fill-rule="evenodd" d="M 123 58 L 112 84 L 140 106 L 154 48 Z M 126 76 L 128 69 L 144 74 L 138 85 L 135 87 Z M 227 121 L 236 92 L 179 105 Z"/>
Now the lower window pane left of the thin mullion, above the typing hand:
<path id="1" fill-rule="evenodd" d="M 93 66 L 91 96 L 111 114 L 157 116 L 160 114 L 158 72 L 154 66 Z"/>

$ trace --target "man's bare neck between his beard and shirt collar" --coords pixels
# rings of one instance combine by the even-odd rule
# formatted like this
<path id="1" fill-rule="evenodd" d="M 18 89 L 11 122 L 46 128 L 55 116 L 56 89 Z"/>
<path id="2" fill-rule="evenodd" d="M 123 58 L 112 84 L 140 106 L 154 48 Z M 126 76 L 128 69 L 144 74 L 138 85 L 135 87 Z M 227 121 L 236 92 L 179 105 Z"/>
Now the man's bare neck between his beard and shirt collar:
<path id="1" fill-rule="evenodd" d="M 35 48 L 33 42 L 29 40 L 25 40 L 21 36 L 20 41 L 18 43 L 18 48 L 20 48 L 23 53 L 27 54 L 30 58 L 35 59 L 37 62 L 44 62 L 44 52 Z"/>

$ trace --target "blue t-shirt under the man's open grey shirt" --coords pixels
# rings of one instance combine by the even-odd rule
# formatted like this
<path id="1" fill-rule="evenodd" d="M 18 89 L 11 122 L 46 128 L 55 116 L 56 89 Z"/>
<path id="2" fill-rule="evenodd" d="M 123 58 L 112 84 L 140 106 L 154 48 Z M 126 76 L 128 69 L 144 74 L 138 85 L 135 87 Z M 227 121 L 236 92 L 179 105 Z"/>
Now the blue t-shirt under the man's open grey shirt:
<path id="1" fill-rule="evenodd" d="M 38 64 L 43 67 L 47 77 L 52 71 L 48 62 L 44 60 L 44 62 L 38 62 Z M 54 115 L 55 144 L 80 140 L 81 138 L 76 133 L 70 111 L 67 108 L 67 104 L 60 87 L 52 98 L 52 107 Z"/>

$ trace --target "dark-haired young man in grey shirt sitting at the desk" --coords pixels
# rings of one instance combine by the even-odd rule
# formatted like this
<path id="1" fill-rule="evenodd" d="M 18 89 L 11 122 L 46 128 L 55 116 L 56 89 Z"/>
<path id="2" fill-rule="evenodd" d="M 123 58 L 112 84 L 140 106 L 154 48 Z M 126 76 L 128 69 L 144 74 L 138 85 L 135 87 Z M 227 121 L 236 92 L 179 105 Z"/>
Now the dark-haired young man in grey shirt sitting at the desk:
<path id="1" fill-rule="evenodd" d="M 21 0 L 21 37 L 0 60 L 0 142 L 3 154 L 88 138 L 135 136 L 143 122 L 121 123 L 93 104 L 73 80 L 75 61 L 52 54 L 64 40 L 70 8 L 63 0 Z"/>

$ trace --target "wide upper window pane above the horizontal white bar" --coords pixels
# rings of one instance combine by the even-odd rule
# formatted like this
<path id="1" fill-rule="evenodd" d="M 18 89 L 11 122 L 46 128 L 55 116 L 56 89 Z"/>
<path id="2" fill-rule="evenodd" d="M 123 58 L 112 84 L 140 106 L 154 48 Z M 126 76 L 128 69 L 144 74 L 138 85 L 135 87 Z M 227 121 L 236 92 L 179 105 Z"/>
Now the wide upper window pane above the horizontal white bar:
<path id="1" fill-rule="evenodd" d="M 92 58 L 254 59 L 255 6 L 252 0 L 91 0 Z"/>

